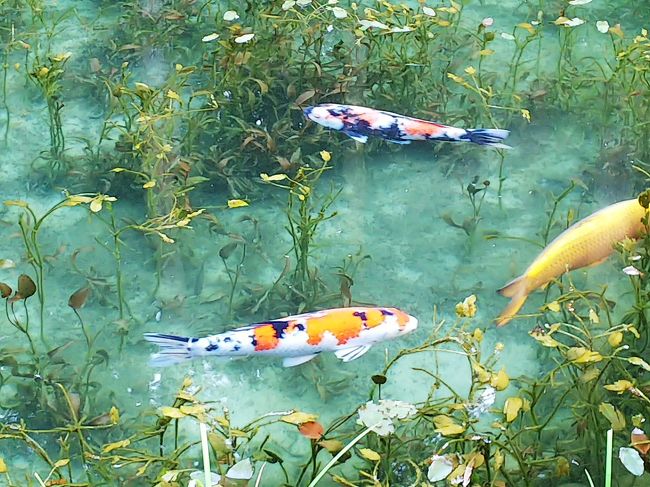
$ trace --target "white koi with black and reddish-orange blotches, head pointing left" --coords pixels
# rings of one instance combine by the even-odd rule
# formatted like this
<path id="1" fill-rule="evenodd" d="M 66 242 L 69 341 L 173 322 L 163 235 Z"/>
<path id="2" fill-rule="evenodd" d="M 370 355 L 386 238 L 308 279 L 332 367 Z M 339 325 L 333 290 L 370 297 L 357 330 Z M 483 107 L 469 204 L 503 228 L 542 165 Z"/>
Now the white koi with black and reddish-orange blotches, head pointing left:
<path id="1" fill-rule="evenodd" d="M 375 136 L 395 144 L 410 144 L 414 140 L 438 140 L 511 148 L 501 143 L 510 133 L 507 130 L 466 130 L 373 108 L 334 103 L 307 107 L 303 111 L 309 120 L 339 130 L 362 144 L 368 141 L 369 136 Z"/>

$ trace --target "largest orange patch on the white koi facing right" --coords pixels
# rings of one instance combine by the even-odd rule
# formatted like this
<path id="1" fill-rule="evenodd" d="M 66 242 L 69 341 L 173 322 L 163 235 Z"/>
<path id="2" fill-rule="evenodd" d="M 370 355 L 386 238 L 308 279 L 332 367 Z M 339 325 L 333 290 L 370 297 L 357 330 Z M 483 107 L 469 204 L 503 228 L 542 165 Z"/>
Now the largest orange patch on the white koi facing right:
<path id="1" fill-rule="evenodd" d="M 384 315 L 376 309 L 338 309 L 332 310 L 323 316 L 316 316 L 307 320 L 307 343 L 318 345 L 323 340 L 326 332 L 336 337 L 339 345 L 343 345 L 352 338 L 359 336 L 364 329 L 374 328 L 384 321 Z"/>

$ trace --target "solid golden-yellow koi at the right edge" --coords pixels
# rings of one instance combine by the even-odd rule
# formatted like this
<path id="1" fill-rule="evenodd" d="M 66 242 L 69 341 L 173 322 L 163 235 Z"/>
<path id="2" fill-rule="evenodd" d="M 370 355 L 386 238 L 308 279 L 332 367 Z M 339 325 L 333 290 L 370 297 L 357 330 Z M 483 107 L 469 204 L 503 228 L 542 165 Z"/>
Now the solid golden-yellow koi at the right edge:
<path id="1" fill-rule="evenodd" d="M 645 215 L 646 209 L 635 198 L 607 206 L 564 230 L 521 276 L 497 291 L 511 298 L 497 326 L 508 323 L 535 289 L 570 270 L 601 264 L 614 251 L 614 244 L 639 238 L 645 232 L 641 221 Z"/>

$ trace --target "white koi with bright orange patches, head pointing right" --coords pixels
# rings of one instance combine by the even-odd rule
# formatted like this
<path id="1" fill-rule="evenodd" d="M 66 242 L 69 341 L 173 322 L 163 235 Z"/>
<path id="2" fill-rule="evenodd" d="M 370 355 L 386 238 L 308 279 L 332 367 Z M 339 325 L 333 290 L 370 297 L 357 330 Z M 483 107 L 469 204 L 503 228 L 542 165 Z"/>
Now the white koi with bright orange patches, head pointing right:
<path id="1" fill-rule="evenodd" d="M 411 333 L 418 320 L 396 308 L 336 308 L 253 323 L 202 338 L 145 333 L 160 347 L 151 365 L 166 366 L 194 357 L 274 355 L 293 367 L 321 352 L 343 362 L 361 357 L 377 342 Z"/>

